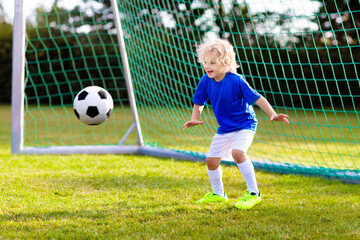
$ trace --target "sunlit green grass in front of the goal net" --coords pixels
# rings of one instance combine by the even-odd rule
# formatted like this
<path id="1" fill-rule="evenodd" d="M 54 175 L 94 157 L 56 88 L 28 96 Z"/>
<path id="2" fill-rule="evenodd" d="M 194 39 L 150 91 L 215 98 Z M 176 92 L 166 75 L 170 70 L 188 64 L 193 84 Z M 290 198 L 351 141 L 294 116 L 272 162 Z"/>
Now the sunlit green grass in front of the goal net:
<path id="1" fill-rule="evenodd" d="M 0 239 L 360 239 L 360 185 L 257 171 L 263 201 L 241 211 L 244 180 L 223 166 L 229 203 L 195 205 L 203 163 L 11 155 L 0 114 Z"/>

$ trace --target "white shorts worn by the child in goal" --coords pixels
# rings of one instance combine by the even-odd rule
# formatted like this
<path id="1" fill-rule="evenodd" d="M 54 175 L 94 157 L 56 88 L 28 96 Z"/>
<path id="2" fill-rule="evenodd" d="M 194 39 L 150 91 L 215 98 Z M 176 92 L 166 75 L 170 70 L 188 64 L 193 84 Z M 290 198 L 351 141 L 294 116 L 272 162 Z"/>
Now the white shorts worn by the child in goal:
<path id="1" fill-rule="evenodd" d="M 253 142 L 255 131 L 244 129 L 225 134 L 215 134 L 208 157 L 220 157 L 224 160 L 233 160 L 232 150 L 237 149 L 244 153 L 247 152 Z"/>

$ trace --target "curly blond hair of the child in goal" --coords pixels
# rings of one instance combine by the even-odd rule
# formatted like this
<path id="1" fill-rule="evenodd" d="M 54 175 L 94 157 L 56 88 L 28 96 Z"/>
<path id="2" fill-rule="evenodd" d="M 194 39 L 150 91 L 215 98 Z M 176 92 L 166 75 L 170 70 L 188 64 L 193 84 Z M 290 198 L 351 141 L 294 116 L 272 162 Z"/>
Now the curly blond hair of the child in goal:
<path id="1" fill-rule="evenodd" d="M 236 63 L 234 47 L 224 39 L 204 42 L 197 47 L 196 53 L 201 64 L 204 64 L 209 56 L 215 56 L 216 60 L 226 67 L 226 71 L 236 73 L 236 68 L 239 67 Z"/>

